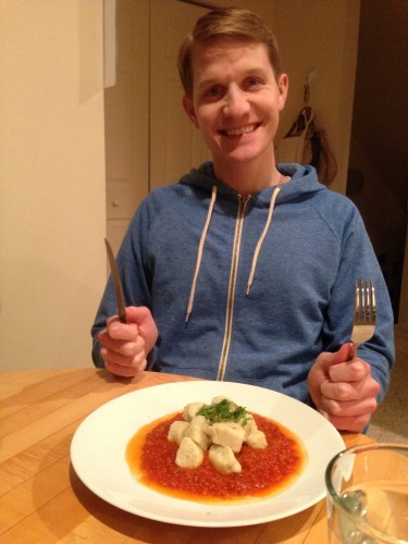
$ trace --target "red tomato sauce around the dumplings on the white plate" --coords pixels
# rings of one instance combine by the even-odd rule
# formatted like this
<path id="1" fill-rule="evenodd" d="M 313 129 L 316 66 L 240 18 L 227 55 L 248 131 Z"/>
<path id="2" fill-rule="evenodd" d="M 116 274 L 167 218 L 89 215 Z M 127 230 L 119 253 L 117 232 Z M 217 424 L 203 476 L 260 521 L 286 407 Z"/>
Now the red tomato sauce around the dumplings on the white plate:
<path id="1" fill-rule="evenodd" d="M 268 441 L 264 449 L 244 444 L 235 457 L 242 472 L 219 472 L 205 454 L 197 469 L 175 463 L 178 445 L 168 441 L 169 428 L 182 413 L 173 413 L 141 428 L 129 441 L 126 460 L 137 480 L 160 493 L 188 500 L 217 503 L 270 496 L 300 474 L 306 453 L 298 437 L 277 422 L 252 413 Z"/>

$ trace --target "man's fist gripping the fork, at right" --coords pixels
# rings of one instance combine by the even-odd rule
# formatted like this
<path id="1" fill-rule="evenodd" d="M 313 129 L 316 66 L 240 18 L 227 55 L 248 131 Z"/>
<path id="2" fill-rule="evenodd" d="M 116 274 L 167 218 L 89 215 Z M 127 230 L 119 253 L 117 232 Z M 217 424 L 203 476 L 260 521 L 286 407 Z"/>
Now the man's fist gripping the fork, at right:
<path id="1" fill-rule="evenodd" d="M 322 353 L 308 375 L 310 396 L 317 409 L 343 431 L 360 432 L 376 409 L 380 384 L 368 362 L 348 359 L 351 344 L 335 354 Z"/>

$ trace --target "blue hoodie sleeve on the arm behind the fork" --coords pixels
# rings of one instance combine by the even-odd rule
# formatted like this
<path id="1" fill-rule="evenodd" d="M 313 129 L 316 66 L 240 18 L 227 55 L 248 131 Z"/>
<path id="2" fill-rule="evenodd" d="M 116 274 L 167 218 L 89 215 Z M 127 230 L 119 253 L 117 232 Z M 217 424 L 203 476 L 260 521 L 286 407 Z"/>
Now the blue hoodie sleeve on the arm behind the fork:
<path id="1" fill-rule="evenodd" d="M 338 233 L 337 233 L 338 234 Z M 372 376 L 381 385 L 379 403 L 383 399 L 394 366 L 394 316 L 388 290 L 366 232 L 362 218 L 351 207 L 342 236 L 342 257 L 338 274 L 333 286 L 323 335 L 326 350 L 336 350 L 338 342 L 350 342 L 356 280 L 372 280 L 375 288 L 376 321 L 374 336 L 358 348 L 358 356 L 371 364 Z"/>

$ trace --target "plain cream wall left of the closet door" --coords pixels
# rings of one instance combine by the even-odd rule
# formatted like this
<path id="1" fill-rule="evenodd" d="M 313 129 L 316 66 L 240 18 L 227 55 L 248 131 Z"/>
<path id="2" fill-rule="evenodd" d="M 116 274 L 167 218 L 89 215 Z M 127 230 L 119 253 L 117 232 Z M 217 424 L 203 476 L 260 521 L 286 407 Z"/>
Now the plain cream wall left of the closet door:
<path id="1" fill-rule="evenodd" d="M 0 1 L 0 370 L 90 366 L 106 282 L 102 1 Z"/>

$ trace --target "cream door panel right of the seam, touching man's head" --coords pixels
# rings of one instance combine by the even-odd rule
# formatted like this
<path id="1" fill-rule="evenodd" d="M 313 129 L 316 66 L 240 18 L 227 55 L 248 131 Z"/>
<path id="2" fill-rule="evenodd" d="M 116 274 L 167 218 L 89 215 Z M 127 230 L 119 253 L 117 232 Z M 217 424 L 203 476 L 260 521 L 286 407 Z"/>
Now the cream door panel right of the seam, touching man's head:
<path id="1" fill-rule="evenodd" d="M 150 189 L 177 182 L 209 159 L 199 131 L 182 106 L 177 52 L 208 10 L 177 0 L 150 4 Z"/>

